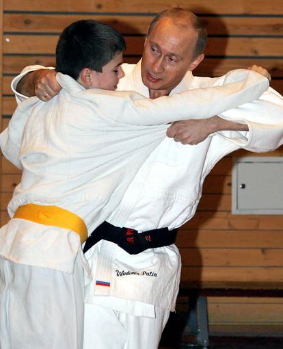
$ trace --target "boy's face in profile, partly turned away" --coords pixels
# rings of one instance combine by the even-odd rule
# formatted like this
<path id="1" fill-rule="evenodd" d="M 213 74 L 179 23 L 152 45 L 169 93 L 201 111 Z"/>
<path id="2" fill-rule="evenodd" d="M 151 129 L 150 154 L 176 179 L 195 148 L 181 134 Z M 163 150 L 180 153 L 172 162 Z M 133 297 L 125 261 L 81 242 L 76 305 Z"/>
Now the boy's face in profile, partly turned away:
<path id="1" fill-rule="evenodd" d="M 103 66 L 102 73 L 92 70 L 92 85 L 88 88 L 101 88 L 103 90 L 116 90 L 119 79 L 124 77 L 121 68 L 123 53 L 119 53 L 110 62 Z"/>

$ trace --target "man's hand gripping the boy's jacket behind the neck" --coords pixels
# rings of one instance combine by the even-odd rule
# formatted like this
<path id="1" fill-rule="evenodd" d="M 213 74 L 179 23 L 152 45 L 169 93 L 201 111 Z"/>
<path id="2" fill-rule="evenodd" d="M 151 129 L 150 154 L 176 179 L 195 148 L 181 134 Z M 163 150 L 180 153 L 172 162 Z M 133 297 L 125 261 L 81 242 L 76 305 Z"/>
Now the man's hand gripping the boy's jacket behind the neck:
<path id="1" fill-rule="evenodd" d="M 34 72 L 34 92 L 44 102 L 52 99 L 62 89 L 56 80 L 56 74 L 56 70 L 50 69 L 40 69 Z"/>

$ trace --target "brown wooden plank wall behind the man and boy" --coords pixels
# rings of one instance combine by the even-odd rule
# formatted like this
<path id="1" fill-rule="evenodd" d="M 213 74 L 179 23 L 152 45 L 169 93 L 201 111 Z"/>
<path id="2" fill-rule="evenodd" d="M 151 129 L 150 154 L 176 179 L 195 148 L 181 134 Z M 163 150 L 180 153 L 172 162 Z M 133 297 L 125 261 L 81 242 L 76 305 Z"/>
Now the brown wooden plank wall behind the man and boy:
<path id="1" fill-rule="evenodd" d="M 258 64 L 269 69 L 271 85 L 283 93 L 282 0 L 3 0 L 2 127 L 8 125 L 15 108 L 10 81 L 28 64 L 53 65 L 55 44 L 66 25 L 80 18 L 113 25 L 126 38 L 126 62 L 137 62 L 154 13 L 175 5 L 199 14 L 207 25 L 206 59 L 196 74 L 217 76 L 232 68 Z M 282 283 L 282 216 L 230 213 L 235 155 L 246 153 L 237 152 L 217 164 L 206 179 L 196 217 L 178 235 L 182 280 L 202 285 L 213 285 L 215 281 Z M 282 149 L 267 155 L 282 156 Z M 4 224 L 8 220 L 7 203 L 21 173 L 3 157 L 1 166 L 0 208 Z M 208 308 L 211 328 L 216 332 L 223 324 L 227 332 L 237 332 L 236 328 L 241 332 L 247 325 L 257 328 L 258 324 L 265 324 L 267 333 L 283 328 L 283 304 L 276 298 L 209 298 Z"/>

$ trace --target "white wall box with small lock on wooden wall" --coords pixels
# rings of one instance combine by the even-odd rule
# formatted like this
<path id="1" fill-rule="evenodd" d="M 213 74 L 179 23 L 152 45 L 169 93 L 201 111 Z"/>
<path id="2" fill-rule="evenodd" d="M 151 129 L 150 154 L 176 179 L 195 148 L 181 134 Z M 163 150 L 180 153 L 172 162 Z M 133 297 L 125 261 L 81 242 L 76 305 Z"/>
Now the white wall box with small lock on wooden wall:
<path id="1" fill-rule="evenodd" d="M 283 157 L 234 157 L 232 214 L 283 214 Z"/>

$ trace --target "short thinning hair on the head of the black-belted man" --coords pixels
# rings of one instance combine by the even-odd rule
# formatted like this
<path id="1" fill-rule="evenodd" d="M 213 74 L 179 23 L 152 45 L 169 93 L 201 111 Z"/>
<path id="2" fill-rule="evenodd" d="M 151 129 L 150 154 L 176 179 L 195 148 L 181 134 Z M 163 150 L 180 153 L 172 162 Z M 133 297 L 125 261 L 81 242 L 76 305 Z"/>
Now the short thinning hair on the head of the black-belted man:
<path id="1" fill-rule="evenodd" d="M 148 35 L 150 34 L 150 31 L 152 31 L 152 29 L 155 27 L 157 22 L 160 21 L 161 18 L 165 17 L 171 18 L 172 21 L 176 21 L 176 24 L 178 24 L 178 20 L 184 20 L 185 22 L 187 22 L 187 25 L 193 27 L 193 29 L 196 29 L 198 33 L 198 40 L 193 51 L 193 56 L 197 57 L 198 55 L 203 53 L 207 40 L 207 32 L 204 27 L 204 23 L 200 21 L 200 18 L 198 18 L 196 14 L 193 14 L 193 12 L 187 11 L 184 8 L 170 8 L 168 10 L 159 12 L 159 14 L 157 14 L 150 23 L 150 26 L 148 28 Z"/>

